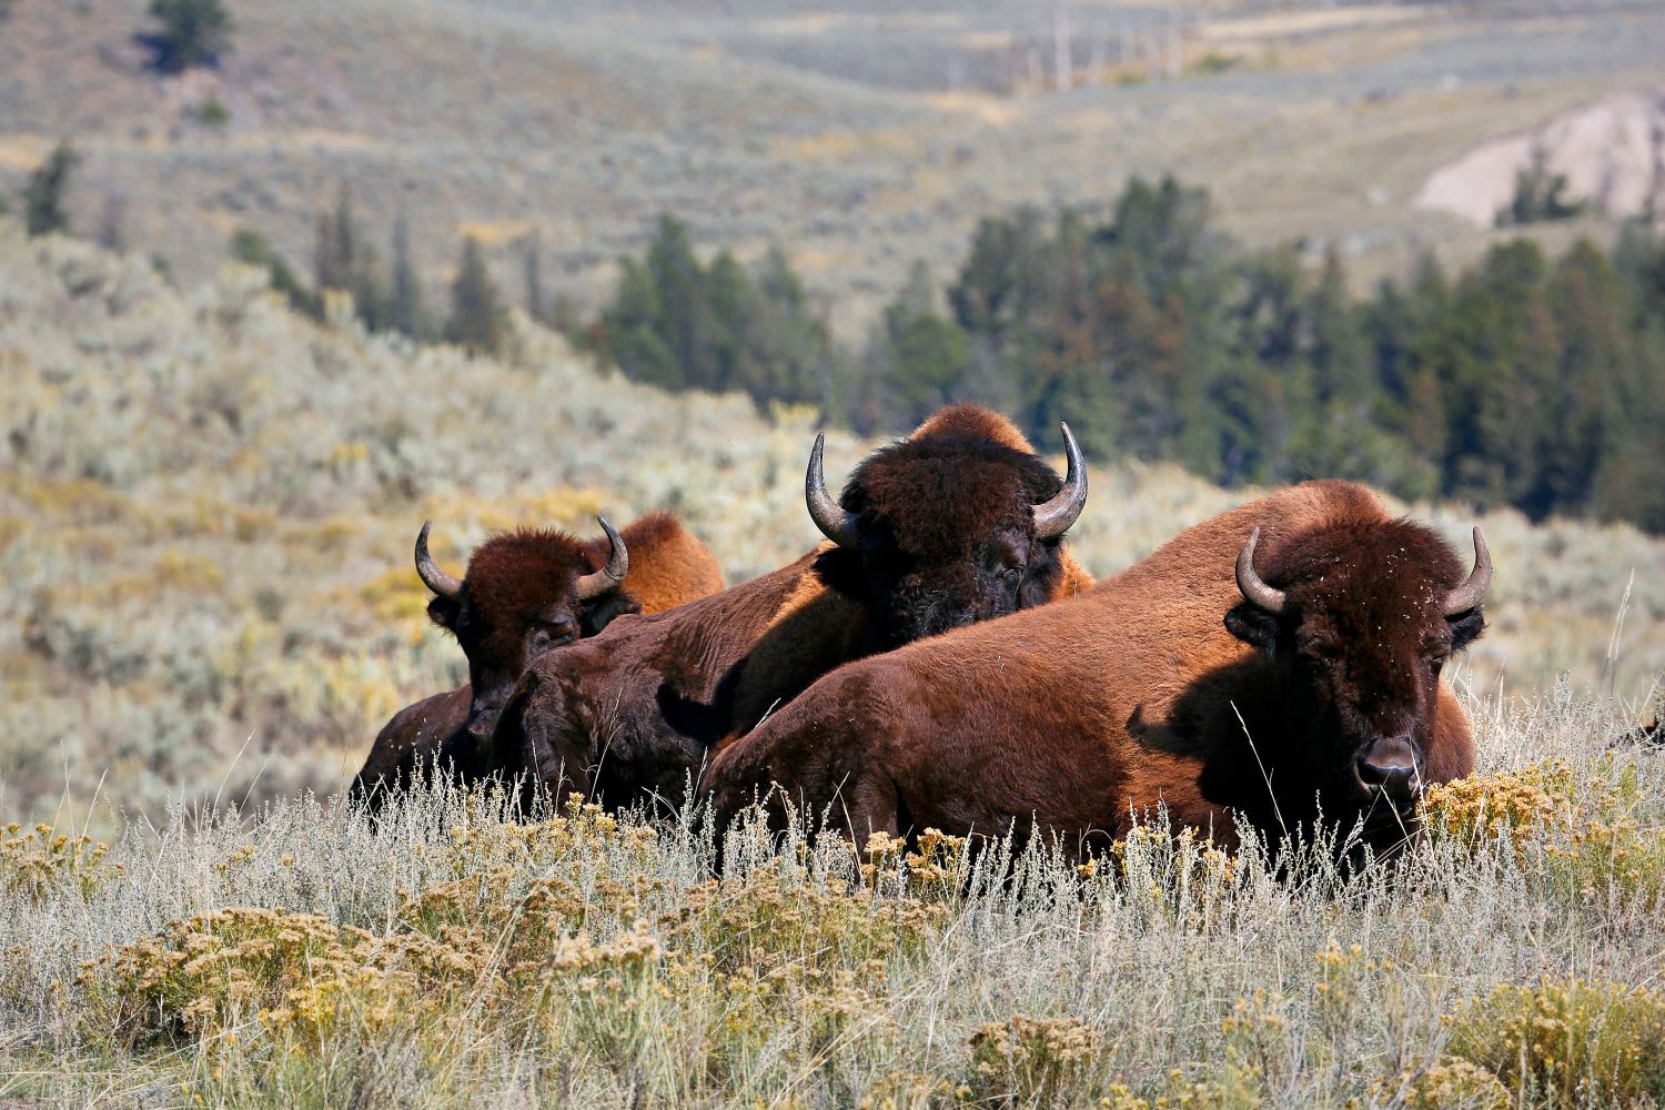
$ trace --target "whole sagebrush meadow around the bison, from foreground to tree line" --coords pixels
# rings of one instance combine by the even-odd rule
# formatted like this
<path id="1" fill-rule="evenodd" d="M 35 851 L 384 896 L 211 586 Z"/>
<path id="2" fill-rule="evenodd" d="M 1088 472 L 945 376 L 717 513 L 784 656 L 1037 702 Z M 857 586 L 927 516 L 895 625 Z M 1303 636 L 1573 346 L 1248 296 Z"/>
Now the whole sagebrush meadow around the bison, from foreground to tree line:
<path id="1" fill-rule="evenodd" d="M 1407 506 L 1497 562 L 1452 679 L 1480 776 L 1362 875 L 754 834 L 713 879 L 698 814 L 368 824 L 333 795 L 375 729 L 463 674 L 425 518 L 453 571 L 598 511 L 676 509 L 731 582 L 816 539 L 811 413 L 511 346 L 0 220 L 0 1105 L 1665 1098 L 1665 767 L 1613 744 L 1665 672 L 1665 543 L 1623 526 Z M 829 481 L 871 446 L 831 434 Z M 1254 493 L 1094 466 L 1071 548 L 1107 574 Z"/>

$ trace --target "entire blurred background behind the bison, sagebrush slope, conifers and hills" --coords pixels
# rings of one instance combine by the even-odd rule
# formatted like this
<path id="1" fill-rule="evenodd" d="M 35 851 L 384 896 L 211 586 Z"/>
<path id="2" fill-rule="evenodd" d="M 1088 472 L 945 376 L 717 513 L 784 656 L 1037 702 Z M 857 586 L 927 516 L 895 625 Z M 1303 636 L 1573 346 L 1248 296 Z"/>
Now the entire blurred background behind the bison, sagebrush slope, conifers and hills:
<path id="1" fill-rule="evenodd" d="M 1097 574 L 1307 476 L 1498 561 L 1465 679 L 1665 669 L 1650 3 L 0 3 L 0 800 L 330 792 L 410 569 L 671 508 L 731 581 L 951 399 Z M 1593 136 L 1593 138 L 1592 138 Z M 1455 198 L 1455 200 L 1454 200 Z M 832 474 L 837 481 L 839 473 Z"/>

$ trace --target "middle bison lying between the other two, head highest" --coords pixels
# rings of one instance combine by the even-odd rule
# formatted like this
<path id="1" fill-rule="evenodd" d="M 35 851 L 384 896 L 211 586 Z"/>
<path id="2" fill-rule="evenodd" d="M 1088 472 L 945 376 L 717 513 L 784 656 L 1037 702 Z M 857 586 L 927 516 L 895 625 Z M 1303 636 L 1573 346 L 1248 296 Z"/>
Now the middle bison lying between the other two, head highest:
<path id="1" fill-rule="evenodd" d="M 498 767 L 606 805 L 674 802 L 716 741 L 837 664 L 1077 592 L 1091 581 L 1061 538 L 1087 474 L 1067 426 L 1064 443 L 1059 481 L 1006 418 L 949 408 L 862 461 L 836 503 L 816 439 L 806 499 L 832 544 L 538 661 L 493 737 Z"/>

